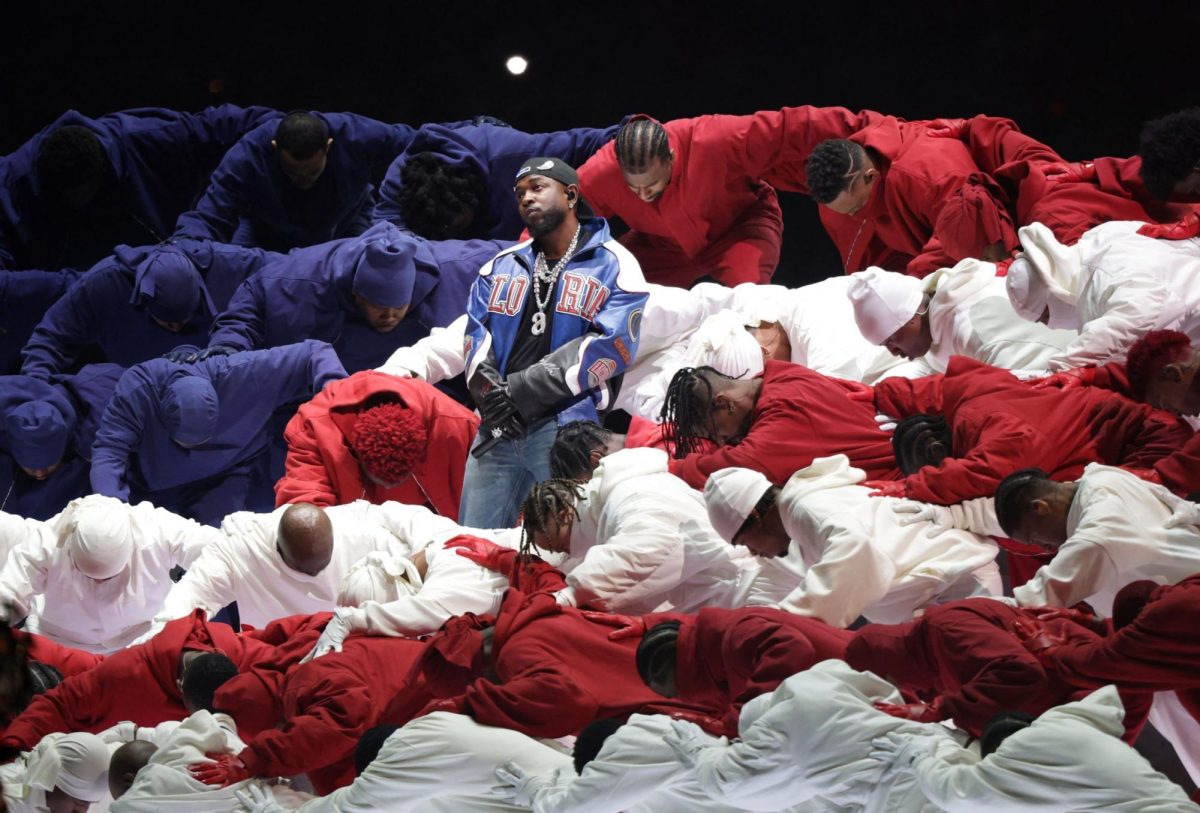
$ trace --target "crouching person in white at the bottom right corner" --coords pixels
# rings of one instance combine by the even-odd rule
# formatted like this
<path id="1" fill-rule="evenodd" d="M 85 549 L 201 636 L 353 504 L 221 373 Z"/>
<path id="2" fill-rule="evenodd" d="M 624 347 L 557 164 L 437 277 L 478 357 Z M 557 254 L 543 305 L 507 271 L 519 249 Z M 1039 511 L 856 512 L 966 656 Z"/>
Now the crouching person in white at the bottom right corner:
<path id="1" fill-rule="evenodd" d="M 1007 717 L 984 730 L 982 757 L 948 752 L 938 741 L 908 734 L 876 740 L 872 755 L 914 775 L 925 796 L 948 813 L 1200 811 L 1121 741 L 1124 707 L 1114 686 L 1037 719 Z"/>

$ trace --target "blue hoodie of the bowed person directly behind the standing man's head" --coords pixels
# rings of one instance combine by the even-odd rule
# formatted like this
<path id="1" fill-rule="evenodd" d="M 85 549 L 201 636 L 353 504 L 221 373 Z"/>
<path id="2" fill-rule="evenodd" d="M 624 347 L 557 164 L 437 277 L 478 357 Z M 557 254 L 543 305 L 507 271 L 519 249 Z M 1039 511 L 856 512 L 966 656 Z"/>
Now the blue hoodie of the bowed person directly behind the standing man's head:
<path id="1" fill-rule="evenodd" d="M 526 133 L 496 125 L 470 125 L 449 128 L 425 125 L 413 136 L 403 155 L 388 168 L 379 189 L 376 217 L 391 221 L 401 228 L 404 218 L 400 211 L 400 174 L 408 159 L 419 152 L 433 152 L 448 164 L 467 163 L 484 176 L 487 194 L 475 212 L 475 219 L 463 239 L 516 240 L 524 230 L 512 193 L 517 170 L 534 156 L 559 158 L 578 167 L 612 139 L 620 125 L 601 130 L 564 130 L 558 133 Z"/>

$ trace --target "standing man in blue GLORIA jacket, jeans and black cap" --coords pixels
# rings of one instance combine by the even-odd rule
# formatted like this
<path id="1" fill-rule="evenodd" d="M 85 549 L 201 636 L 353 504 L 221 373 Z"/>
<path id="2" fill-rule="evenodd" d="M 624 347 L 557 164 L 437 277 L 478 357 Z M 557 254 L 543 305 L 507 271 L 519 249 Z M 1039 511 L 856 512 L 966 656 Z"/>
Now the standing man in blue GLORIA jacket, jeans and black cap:
<path id="1" fill-rule="evenodd" d="M 558 423 L 598 421 L 637 353 L 647 287 L 637 260 L 580 197 L 557 158 L 530 158 L 516 203 L 533 239 L 479 271 L 467 307 L 467 384 L 482 423 L 458 522 L 516 522 L 550 477 Z"/>

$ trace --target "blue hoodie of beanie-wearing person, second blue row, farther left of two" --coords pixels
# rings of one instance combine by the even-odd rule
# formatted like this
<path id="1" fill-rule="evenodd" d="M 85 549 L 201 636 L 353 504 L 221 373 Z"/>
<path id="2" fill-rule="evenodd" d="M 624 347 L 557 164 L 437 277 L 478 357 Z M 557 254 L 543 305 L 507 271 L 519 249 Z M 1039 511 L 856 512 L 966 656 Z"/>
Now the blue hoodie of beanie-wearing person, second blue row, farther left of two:
<path id="1" fill-rule="evenodd" d="M 118 246 L 112 257 L 79 277 L 46 312 L 22 351 L 22 372 L 42 378 L 70 372 L 92 347 L 98 347 L 106 361 L 132 367 L 181 344 L 203 345 L 214 317 L 229 303 L 238 287 L 283 257 L 206 240 L 174 239 L 172 243 L 192 260 L 204 279 L 211 313 L 205 302 L 182 332 L 161 327 L 145 307 L 132 303 L 138 265 L 158 247 Z"/>

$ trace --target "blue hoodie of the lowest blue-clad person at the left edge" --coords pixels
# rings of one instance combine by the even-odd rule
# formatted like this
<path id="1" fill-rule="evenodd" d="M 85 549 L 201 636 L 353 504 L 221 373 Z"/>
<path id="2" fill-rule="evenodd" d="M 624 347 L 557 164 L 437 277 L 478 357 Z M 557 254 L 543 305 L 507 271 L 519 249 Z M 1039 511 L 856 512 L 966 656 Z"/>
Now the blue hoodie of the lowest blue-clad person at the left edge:
<path id="1" fill-rule="evenodd" d="M 35 480 L 17 465 L 0 420 L 0 511 L 49 519 L 67 502 L 91 493 L 91 445 L 116 381 L 118 365 L 88 365 L 73 375 L 49 380 L 29 375 L 0 377 L 0 418 L 14 406 L 44 401 L 62 414 L 70 427 L 66 454 L 46 480 Z"/>

